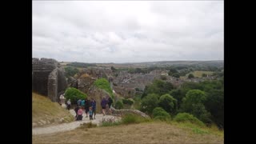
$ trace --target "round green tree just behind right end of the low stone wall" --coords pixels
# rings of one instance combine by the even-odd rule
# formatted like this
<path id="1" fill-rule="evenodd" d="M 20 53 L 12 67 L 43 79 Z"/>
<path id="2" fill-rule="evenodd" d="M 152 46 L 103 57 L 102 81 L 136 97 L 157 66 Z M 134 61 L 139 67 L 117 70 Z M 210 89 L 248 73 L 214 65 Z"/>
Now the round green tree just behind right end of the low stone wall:
<path id="1" fill-rule="evenodd" d="M 155 107 L 158 107 L 158 94 L 149 94 L 142 98 L 141 110 L 147 114 L 152 114 Z"/>

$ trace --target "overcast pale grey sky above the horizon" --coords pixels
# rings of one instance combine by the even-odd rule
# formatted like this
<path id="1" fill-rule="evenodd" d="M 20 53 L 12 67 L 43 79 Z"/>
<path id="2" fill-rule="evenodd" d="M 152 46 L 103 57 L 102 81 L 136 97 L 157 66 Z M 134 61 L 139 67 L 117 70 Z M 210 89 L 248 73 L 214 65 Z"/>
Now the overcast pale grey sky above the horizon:
<path id="1" fill-rule="evenodd" d="M 223 1 L 33 1 L 33 58 L 223 60 Z"/>

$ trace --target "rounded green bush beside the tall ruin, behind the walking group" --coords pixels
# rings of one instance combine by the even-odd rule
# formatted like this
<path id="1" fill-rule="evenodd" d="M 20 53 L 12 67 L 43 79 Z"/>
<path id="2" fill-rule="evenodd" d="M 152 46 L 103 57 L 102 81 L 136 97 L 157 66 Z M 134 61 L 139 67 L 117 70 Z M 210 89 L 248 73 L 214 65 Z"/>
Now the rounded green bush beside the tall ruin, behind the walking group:
<path id="1" fill-rule="evenodd" d="M 65 91 L 65 98 L 66 101 L 70 99 L 71 103 L 77 103 L 78 99 L 85 99 L 87 95 L 74 87 L 69 87 Z"/>

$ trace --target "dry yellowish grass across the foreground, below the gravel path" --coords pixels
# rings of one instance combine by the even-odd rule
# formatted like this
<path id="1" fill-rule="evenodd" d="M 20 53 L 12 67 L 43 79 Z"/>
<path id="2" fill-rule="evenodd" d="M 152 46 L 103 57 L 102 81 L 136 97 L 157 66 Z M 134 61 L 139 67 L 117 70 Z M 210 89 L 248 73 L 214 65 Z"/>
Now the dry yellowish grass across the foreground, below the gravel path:
<path id="1" fill-rule="evenodd" d="M 42 134 L 33 143 L 223 143 L 216 134 L 196 134 L 166 122 L 71 130 L 58 134 Z"/>

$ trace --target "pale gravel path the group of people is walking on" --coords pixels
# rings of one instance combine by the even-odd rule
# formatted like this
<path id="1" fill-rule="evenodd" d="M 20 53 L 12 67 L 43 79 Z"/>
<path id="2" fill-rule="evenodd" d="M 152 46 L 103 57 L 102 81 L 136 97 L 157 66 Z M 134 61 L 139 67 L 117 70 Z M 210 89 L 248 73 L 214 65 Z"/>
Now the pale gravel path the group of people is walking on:
<path id="1" fill-rule="evenodd" d="M 75 116 L 74 110 L 70 110 L 70 113 Z M 32 134 L 50 134 L 50 133 L 67 131 L 67 130 L 74 130 L 75 128 L 80 126 L 80 124 L 86 123 L 86 122 L 92 122 L 98 125 L 102 121 L 102 118 L 117 118 L 117 117 L 112 115 L 103 116 L 103 114 L 96 114 L 96 119 L 89 120 L 89 115 L 88 115 L 88 118 L 86 118 L 86 114 L 83 114 L 82 121 L 62 123 L 57 126 L 35 127 L 32 129 Z"/>

